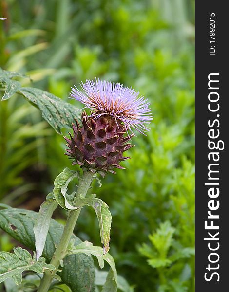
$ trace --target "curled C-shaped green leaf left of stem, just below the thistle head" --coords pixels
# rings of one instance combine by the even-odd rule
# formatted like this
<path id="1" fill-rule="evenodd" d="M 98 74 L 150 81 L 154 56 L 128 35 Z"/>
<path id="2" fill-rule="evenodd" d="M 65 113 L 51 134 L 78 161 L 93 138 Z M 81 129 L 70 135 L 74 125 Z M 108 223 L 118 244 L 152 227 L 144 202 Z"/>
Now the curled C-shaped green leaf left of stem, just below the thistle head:
<path id="1" fill-rule="evenodd" d="M 68 184 L 74 179 L 78 178 L 76 171 L 65 168 L 54 181 L 53 193 L 60 207 L 65 210 L 77 210 L 79 207 L 71 205 L 73 202 L 67 200 Z M 69 197 L 69 196 L 68 196 Z M 73 197 L 73 196 L 72 196 Z"/>

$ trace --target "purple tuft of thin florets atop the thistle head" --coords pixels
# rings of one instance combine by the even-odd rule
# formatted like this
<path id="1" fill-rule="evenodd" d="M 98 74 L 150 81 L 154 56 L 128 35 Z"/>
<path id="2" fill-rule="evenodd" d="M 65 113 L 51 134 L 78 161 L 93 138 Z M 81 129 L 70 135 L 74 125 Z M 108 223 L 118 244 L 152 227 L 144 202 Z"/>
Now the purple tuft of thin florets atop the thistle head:
<path id="1" fill-rule="evenodd" d="M 148 131 L 145 124 L 149 124 L 151 115 L 148 99 L 139 96 L 139 92 L 124 87 L 120 83 L 105 80 L 86 80 L 80 84 L 82 92 L 75 86 L 70 95 L 83 103 L 87 108 L 95 111 L 92 116 L 99 118 L 109 114 L 115 120 L 124 123 L 126 129 L 135 128 L 140 133 Z"/>

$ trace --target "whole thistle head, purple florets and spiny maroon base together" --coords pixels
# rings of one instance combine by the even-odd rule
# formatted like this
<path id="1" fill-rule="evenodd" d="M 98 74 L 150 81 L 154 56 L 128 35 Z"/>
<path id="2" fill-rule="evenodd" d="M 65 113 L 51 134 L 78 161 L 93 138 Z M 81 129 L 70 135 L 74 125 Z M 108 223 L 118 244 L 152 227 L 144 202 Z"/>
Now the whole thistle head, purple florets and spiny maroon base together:
<path id="1" fill-rule="evenodd" d="M 86 80 L 81 88 L 82 92 L 72 88 L 70 95 L 92 112 L 87 116 L 84 111 L 82 127 L 76 120 L 74 135 L 70 134 L 70 139 L 64 137 L 69 147 L 65 154 L 74 159 L 73 164 L 86 166 L 102 176 L 107 171 L 115 173 L 115 167 L 124 169 L 119 163 L 130 157 L 124 157 L 123 152 L 133 146 L 125 143 L 134 136 L 127 131 L 135 128 L 144 134 L 149 130 L 145 126 L 152 120 L 149 102 L 120 83 Z"/>

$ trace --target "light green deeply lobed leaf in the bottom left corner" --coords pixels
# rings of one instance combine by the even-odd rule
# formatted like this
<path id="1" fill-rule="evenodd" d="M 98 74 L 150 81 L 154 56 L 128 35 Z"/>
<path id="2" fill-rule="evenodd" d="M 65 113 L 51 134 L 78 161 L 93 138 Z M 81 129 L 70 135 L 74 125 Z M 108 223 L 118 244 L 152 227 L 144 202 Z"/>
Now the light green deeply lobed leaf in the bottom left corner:
<path id="1" fill-rule="evenodd" d="M 20 285 L 22 273 L 24 271 L 34 271 L 42 274 L 46 269 L 45 261 L 32 258 L 30 253 L 21 247 L 15 247 L 14 253 L 0 252 L 0 283 L 6 279 L 12 278 L 15 284 Z M 55 270 L 55 267 L 48 265 L 49 270 Z"/>

